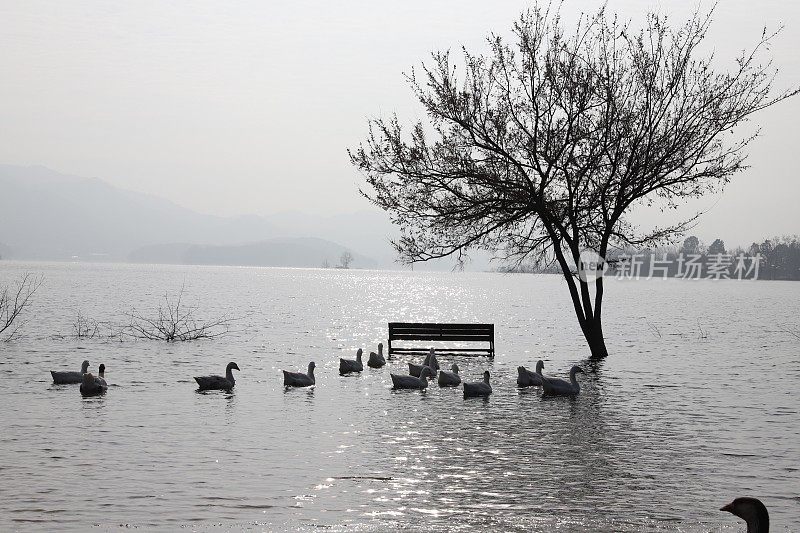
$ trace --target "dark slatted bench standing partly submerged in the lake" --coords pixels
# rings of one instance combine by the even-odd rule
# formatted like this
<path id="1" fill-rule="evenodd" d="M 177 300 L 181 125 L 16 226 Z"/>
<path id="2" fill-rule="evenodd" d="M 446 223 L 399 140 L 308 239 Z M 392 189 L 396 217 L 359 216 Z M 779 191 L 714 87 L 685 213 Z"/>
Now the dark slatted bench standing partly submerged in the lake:
<path id="1" fill-rule="evenodd" d="M 488 342 L 486 348 L 436 348 L 441 354 L 486 354 L 494 358 L 494 324 L 434 324 L 418 322 L 389 322 L 389 355 L 422 354 L 429 347 L 399 348 L 392 341 L 453 341 Z"/>

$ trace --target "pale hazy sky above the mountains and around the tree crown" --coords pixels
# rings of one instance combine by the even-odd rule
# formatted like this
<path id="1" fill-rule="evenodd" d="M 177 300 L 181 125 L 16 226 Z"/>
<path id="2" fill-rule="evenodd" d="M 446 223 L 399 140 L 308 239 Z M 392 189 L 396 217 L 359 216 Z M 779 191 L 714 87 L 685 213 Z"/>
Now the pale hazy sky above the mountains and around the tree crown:
<path id="1" fill-rule="evenodd" d="M 526 5 L 0 0 L 0 162 L 101 177 L 207 213 L 368 208 L 346 149 L 371 116 L 420 116 L 402 72 L 435 49 L 481 49 Z M 563 11 L 599 5 L 567 0 Z M 648 8 L 683 20 L 697 3 L 608 5 L 634 21 Z M 800 3 L 722 0 L 709 44 L 732 59 L 781 24 L 777 85 L 800 85 Z M 700 204 L 710 208 L 702 238 L 800 232 L 798 117 L 800 97 L 758 117 L 752 168 Z"/>

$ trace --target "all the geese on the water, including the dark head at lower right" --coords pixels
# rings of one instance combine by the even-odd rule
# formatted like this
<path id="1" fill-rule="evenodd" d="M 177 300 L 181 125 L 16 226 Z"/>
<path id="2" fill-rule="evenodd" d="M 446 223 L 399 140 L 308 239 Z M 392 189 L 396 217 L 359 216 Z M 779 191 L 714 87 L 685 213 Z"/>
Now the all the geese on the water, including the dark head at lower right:
<path id="1" fill-rule="evenodd" d="M 363 351 L 359 348 L 355 359 L 339 359 L 340 374 L 350 374 L 362 372 Z M 371 368 L 381 368 L 386 365 L 386 358 L 383 356 L 383 344 L 378 344 L 378 352 L 369 354 L 367 366 Z M 283 385 L 285 387 L 310 387 L 316 384 L 314 377 L 314 362 L 308 364 L 308 372 L 288 372 L 283 371 Z M 76 371 L 55 371 L 51 370 L 53 383 L 57 385 L 78 384 L 83 396 L 96 396 L 104 394 L 108 390 L 105 380 L 104 364 L 98 368 L 97 376 L 89 370 L 89 361 L 81 364 L 80 372 Z M 536 362 L 536 370 L 531 372 L 524 366 L 517 367 L 517 385 L 519 387 L 542 387 L 542 394 L 554 396 L 576 396 L 580 393 L 580 385 L 575 379 L 575 375 L 583 373 L 578 366 L 573 366 L 569 373 L 569 381 L 548 377 L 542 374 L 544 362 Z M 236 385 L 233 371 L 239 370 L 236 363 L 228 363 L 225 367 L 224 376 L 199 376 L 195 377 L 199 390 L 231 390 Z M 425 357 L 421 365 L 408 363 L 408 375 L 392 374 L 392 385 L 395 389 L 425 389 L 428 380 L 437 379 L 440 387 L 457 387 L 460 385 L 461 376 L 458 373 L 458 365 L 453 363 L 451 371 L 441 370 L 439 361 L 433 348 Z M 437 378 L 438 376 L 438 378 Z M 464 383 L 464 398 L 488 397 L 492 393 L 492 385 L 489 383 L 489 371 L 483 373 L 483 381 L 475 383 Z M 766 506 L 756 498 L 742 497 L 736 498 L 731 503 L 723 506 L 720 511 L 727 511 L 738 516 L 747 524 L 747 533 L 769 533 L 769 513 Z"/>

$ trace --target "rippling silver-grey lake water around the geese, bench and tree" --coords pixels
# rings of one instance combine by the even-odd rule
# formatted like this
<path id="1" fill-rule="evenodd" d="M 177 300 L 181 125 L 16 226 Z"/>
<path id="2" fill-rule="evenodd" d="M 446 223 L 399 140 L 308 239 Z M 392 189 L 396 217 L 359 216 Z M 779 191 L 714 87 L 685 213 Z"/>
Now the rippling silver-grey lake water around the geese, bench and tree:
<path id="1" fill-rule="evenodd" d="M 800 531 L 800 283 L 610 280 L 592 365 L 557 276 L 4 262 L 0 285 L 24 272 L 44 284 L 0 343 L 0 530 L 734 532 L 719 507 L 753 495 Z M 72 336 L 182 284 L 236 331 Z M 389 321 L 493 322 L 495 360 L 457 361 L 494 394 L 391 391 L 406 358 L 340 377 Z M 517 389 L 540 358 L 584 365 L 581 395 Z M 83 359 L 105 396 L 52 384 Z M 317 386 L 284 391 L 311 360 Z M 195 391 L 228 361 L 232 394 Z"/>

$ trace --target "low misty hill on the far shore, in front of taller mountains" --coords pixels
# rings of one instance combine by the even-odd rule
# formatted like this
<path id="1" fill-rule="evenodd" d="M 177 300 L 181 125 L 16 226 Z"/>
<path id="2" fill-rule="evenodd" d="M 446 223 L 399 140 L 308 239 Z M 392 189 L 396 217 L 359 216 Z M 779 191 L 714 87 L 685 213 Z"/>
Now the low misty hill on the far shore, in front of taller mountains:
<path id="1" fill-rule="evenodd" d="M 229 246 L 157 244 L 134 250 L 128 259 L 134 263 L 319 267 L 324 263 L 336 266 L 342 253 L 347 250 L 342 245 L 324 239 L 297 237 Z M 353 265 L 376 268 L 378 263 L 372 258 L 353 253 Z"/>

